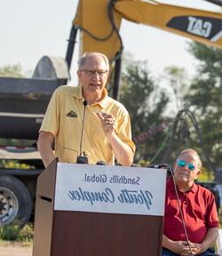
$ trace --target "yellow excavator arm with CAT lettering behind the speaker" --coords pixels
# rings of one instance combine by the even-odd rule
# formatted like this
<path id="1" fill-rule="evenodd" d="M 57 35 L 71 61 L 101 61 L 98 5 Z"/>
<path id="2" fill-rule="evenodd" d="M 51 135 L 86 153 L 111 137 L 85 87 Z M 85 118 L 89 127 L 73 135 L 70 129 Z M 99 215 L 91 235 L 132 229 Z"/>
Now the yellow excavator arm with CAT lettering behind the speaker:
<path id="1" fill-rule="evenodd" d="M 202 1 L 222 6 L 222 0 Z M 112 91 L 115 99 L 118 98 L 123 52 L 123 42 L 119 33 L 123 19 L 222 48 L 222 13 L 163 4 L 155 0 L 79 0 L 68 40 L 67 65 L 70 68 L 75 38 L 79 30 L 80 54 L 91 51 L 103 52 L 112 62 Z"/>

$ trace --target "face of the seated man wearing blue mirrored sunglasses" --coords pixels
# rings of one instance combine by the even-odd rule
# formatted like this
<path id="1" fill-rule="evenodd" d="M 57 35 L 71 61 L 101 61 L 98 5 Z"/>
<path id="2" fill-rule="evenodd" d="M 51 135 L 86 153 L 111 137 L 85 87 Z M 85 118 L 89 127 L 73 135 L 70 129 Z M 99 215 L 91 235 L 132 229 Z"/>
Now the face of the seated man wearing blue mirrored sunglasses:
<path id="1" fill-rule="evenodd" d="M 194 170 L 192 170 L 193 168 Z M 200 172 L 198 158 L 191 152 L 179 156 L 174 165 L 175 180 L 180 184 L 193 184 Z"/>

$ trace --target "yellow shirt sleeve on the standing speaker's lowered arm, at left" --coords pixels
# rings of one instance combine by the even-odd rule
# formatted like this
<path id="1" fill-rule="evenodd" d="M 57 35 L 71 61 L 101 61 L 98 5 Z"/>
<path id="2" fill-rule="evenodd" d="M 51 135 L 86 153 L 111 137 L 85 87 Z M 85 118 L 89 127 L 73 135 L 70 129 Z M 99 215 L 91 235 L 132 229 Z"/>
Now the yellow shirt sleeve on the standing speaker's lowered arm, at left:
<path id="1" fill-rule="evenodd" d="M 59 109 L 61 106 L 58 89 L 52 94 L 52 98 L 44 115 L 44 121 L 39 130 L 39 132 L 51 132 L 54 136 L 59 131 Z"/>

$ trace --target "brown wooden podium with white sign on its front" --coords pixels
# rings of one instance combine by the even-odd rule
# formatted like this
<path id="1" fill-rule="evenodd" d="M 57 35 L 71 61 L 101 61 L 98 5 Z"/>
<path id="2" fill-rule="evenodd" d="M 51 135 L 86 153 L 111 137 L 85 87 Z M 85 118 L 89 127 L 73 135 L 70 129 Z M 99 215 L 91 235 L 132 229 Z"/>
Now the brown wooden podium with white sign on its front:
<path id="1" fill-rule="evenodd" d="M 166 170 L 54 160 L 37 180 L 33 256 L 161 255 L 165 181 Z"/>

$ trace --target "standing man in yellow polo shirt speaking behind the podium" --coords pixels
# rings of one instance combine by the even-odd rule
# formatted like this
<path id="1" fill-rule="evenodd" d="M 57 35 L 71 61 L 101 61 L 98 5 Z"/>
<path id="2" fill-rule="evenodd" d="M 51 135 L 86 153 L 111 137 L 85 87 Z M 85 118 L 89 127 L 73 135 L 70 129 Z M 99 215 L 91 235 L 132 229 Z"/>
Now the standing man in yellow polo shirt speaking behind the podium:
<path id="1" fill-rule="evenodd" d="M 86 52 L 78 64 L 80 85 L 60 86 L 45 113 L 37 141 L 44 166 L 55 157 L 59 162 L 76 163 L 76 157 L 83 152 L 89 164 L 99 161 L 115 164 L 116 159 L 119 164 L 131 165 L 135 145 L 131 141 L 130 116 L 120 102 L 107 96 L 107 56 Z M 83 152 L 79 152 L 84 108 Z"/>

